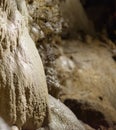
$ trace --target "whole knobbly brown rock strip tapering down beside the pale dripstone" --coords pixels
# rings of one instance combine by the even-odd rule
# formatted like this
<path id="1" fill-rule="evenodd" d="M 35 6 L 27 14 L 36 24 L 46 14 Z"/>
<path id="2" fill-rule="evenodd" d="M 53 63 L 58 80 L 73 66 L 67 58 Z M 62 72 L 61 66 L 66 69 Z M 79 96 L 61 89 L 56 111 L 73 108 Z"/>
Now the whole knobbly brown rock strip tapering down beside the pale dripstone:
<path id="1" fill-rule="evenodd" d="M 27 0 L 29 33 L 35 41 L 45 69 L 49 93 L 57 97 L 60 85 L 54 70 L 53 44 L 62 30 L 59 0 Z M 52 91 L 55 88 L 56 91 Z M 54 90 L 54 89 L 53 89 Z"/>

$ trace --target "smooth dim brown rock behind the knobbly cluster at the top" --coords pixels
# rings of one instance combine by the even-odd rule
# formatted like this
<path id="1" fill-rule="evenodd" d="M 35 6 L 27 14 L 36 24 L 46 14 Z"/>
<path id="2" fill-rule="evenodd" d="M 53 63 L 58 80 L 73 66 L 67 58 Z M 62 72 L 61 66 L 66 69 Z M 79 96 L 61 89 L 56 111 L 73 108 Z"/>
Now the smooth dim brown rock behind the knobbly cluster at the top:
<path id="1" fill-rule="evenodd" d="M 60 7 L 62 17 L 69 26 L 67 31 L 70 33 L 71 36 L 74 37 L 77 31 L 82 31 L 92 35 L 93 33 L 95 33 L 92 23 L 88 19 L 80 0 L 61 1 Z"/>

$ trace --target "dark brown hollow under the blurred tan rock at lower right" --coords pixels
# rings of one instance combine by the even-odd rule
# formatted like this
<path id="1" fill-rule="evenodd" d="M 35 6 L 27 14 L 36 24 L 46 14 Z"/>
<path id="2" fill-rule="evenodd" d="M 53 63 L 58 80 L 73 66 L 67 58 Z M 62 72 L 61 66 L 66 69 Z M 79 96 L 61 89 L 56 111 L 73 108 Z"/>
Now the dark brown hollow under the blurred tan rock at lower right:
<path id="1" fill-rule="evenodd" d="M 71 99 L 66 99 L 64 104 L 74 112 L 79 120 L 90 125 L 91 127 L 95 129 L 99 129 L 101 126 L 105 128 L 110 127 L 104 115 L 100 111 L 92 109 L 89 104 Z"/>

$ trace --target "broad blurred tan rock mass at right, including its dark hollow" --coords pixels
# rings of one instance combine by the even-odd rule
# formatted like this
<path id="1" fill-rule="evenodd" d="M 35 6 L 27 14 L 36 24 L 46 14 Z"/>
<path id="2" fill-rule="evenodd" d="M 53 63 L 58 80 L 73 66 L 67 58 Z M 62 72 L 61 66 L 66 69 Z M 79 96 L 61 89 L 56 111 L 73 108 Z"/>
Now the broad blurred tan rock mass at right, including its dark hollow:
<path id="1" fill-rule="evenodd" d="M 77 117 L 94 127 L 116 123 L 116 63 L 112 49 L 99 40 L 65 41 L 56 60 L 61 99 Z M 93 44 L 94 43 L 94 44 Z M 115 47 L 116 48 L 116 47 Z"/>

